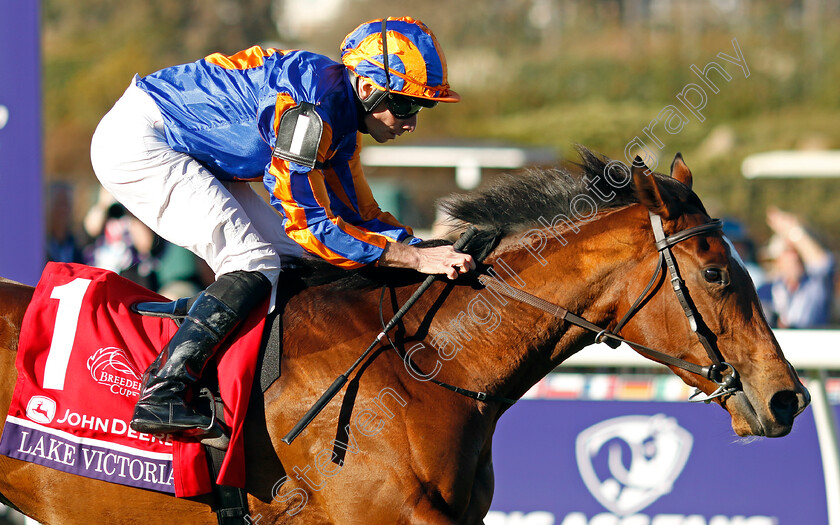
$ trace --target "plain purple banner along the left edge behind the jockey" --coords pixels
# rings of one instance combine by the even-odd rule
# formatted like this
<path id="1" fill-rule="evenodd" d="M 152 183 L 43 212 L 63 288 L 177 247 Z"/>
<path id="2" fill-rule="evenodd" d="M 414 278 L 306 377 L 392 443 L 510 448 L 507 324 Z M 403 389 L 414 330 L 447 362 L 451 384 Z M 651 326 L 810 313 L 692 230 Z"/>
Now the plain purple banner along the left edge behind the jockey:
<path id="1" fill-rule="evenodd" d="M 34 285 L 44 267 L 37 0 L 0 0 L 0 277 Z"/>

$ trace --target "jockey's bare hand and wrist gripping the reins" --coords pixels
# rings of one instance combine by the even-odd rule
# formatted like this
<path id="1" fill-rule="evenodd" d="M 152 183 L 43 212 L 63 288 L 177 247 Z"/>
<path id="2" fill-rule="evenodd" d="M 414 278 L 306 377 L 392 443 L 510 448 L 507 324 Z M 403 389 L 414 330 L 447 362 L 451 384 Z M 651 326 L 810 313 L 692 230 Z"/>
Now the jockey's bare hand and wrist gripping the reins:
<path id="1" fill-rule="evenodd" d="M 455 251 L 452 246 L 416 248 L 389 242 L 379 258 L 379 266 L 413 268 L 421 273 L 445 274 L 449 279 L 455 279 L 459 273 L 474 270 L 475 261 L 472 255 Z"/>

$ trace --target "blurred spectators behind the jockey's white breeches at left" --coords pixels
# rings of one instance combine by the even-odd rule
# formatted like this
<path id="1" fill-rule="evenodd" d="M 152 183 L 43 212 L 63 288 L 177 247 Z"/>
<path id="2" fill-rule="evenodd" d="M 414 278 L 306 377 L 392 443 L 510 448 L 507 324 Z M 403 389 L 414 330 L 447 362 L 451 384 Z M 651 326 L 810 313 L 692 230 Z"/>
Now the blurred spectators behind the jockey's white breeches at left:
<path id="1" fill-rule="evenodd" d="M 75 227 L 74 188 L 54 184 L 46 209 L 46 259 L 111 270 L 170 299 L 189 297 L 213 282 L 207 265 L 157 236 L 104 189 Z"/>

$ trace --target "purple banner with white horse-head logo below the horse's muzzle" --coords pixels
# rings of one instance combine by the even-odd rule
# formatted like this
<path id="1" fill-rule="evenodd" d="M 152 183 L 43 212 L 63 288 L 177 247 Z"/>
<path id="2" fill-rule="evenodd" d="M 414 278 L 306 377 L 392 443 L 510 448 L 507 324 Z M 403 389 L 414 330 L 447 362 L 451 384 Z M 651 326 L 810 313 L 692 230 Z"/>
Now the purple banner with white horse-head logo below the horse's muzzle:
<path id="1" fill-rule="evenodd" d="M 787 437 L 748 441 L 717 406 L 522 401 L 496 429 L 485 523 L 827 523 L 811 412 Z"/>

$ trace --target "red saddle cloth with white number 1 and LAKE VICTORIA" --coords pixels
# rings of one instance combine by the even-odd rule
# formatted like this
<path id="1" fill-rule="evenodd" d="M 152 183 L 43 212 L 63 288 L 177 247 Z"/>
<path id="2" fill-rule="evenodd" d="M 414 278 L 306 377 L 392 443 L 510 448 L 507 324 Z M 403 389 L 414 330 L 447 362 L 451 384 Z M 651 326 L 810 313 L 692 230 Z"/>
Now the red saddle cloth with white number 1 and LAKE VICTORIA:
<path id="1" fill-rule="evenodd" d="M 141 316 L 130 306 L 165 300 L 107 270 L 47 264 L 21 327 L 0 453 L 179 497 L 209 492 L 200 444 L 128 426 L 141 376 L 176 330 L 172 320 Z M 222 485 L 245 486 L 242 423 L 267 309 L 268 301 L 256 308 L 215 358 L 231 427 L 217 478 Z"/>

